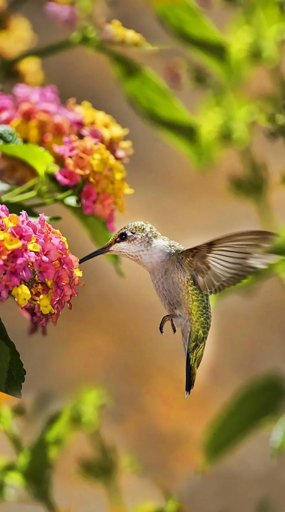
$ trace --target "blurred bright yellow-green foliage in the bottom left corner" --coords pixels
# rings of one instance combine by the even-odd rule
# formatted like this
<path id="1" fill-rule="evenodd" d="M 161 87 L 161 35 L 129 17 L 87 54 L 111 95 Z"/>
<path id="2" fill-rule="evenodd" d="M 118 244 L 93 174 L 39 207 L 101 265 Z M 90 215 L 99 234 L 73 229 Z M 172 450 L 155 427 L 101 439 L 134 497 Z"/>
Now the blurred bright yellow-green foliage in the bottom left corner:
<path id="1" fill-rule="evenodd" d="M 52 497 L 54 464 L 73 433 L 98 430 L 101 410 L 107 401 L 105 392 L 100 389 L 83 391 L 64 408 L 52 413 L 37 439 L 28 446 L 22 445 L 14 427 L 13 419 L 18 416 L 16 409 L 2 406 L 0 430 L 14 447 L 17 458 L 0 464 L 0 498 L 8 499 L 12 487 L 22 488 L 47 510 L 56 510 Z"/>

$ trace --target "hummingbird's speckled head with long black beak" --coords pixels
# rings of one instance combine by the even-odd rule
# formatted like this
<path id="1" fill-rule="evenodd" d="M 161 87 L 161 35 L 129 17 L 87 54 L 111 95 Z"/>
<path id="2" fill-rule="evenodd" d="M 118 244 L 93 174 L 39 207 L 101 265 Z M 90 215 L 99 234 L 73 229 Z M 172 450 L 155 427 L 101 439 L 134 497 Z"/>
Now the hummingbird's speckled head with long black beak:
<path id="1" fill-rule="evenodd" d="M 149 269 L 156 256 L 166 253 L 167 240 L 148 222 L 133 222 L 117 231 L 101 249 L 81 258 L 79 264 L 100 254 L 109 253 L 125 256 Z"/>

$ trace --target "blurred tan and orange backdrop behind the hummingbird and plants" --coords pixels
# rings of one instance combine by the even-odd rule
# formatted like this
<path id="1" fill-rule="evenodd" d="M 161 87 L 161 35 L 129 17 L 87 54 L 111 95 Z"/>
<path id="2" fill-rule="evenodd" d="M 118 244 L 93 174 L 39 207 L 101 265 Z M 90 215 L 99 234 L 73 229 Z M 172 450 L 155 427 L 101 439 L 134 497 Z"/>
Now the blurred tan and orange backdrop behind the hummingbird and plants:
<path id="1" fill-rule="evenodd" d="M 107 8 L 106 8 L 107 9 Z M 42 44 L 62 36 L 62 28 L 46 19 L 42 3 L 27 2 L 22 10 L 39 34 Z M 106 11 L 107 12 L 107 11 Z M 223 10 L 205 3 L 205 12 L 222 28 Z M 143 0 L 122 0 L 112 6 L 112 17 L 155 43 L 170 40 L 156 23 Z M 173 43 L 172 43 L 173 44 Z M 142 58 L 161 74 L 172 50 Z M 226 173 L 238 168 L 228 155 L 207 173 L 189 162 L 146 125 L 127 104 L 115 82 L 107 59 L 76 49 L 44 61 L 51 83 L 62 102 L 76 97 L 89 100 L 130 129 L 135 154 L 128 165 L 128 183 L 135 194 L 127 198 L 127 214 L 117 216 L 116 226 L 145 220 L 166 236 L 188 247 L 235 230 L 258 228 L 250 204 L 228 193 Z M 248 86 L 267 87 L 263 76 Z M 178 93 L 195 111 L 199 94 Z M 271 173 L 280 173 L 284 162 L 281 144 L 264 138 L 255 150 L 270 162 Z M 282 224 L 285 205 L 281 190 L 273 190 L 277 219 Z M 82 257 L 93 250 L 85 232 L 66 210 L 53 206 L 47 214 L 61 215 L 60 229 L 70 249 Z M 163 503 L 159 488 L 176 493 L 192 512 L 250 512 L 265 498 L 276 512 L 284 510 L 285 462 L 270 459 L 268 432 L 249 438 L 204 475 L 195 475 L 200 461 L 201 434 L 226 398 L 256 374 L 285 370 L 285 293 L 276 278 L 258 284 L 250 294 L 232 293 L 213 311 L 212 326 L 195 389 L 184 398 L 184 352 L 180 334 L 158 330 L 164 314 L 147 273 L 124 261 L 126 278 L 120 278 L 105 258 L 82 266 L 85 287 L 74 301 L 73 312 L 64 311 L 48 335 L 26 335 L 27 324 L 10 304 L 2 305 L 11 339 L 27 369 L 23 399 L 49 392 L 62 403 L 86 384 L 106 388 L 113 405 L 104 414 L 107 438 L 141 462 L 141 476 L 123 480 L 127 504 L 145 500 Z M 31 425 L 29 435 L 35 425 Z M 9 454 L 4 437 L 0 452 Z M 62 508 L 101 512 L 105 497 L 93 484 L 79 479 L 74 461 L 86 452 L 80 436 L 69 446 L 55 475 L 55 498 Z M 262 508 L 264 507 L 264 508 Z M 40 511 L 31 504 L 2 504 L 3 512 Z"/>

